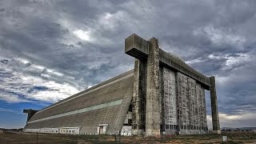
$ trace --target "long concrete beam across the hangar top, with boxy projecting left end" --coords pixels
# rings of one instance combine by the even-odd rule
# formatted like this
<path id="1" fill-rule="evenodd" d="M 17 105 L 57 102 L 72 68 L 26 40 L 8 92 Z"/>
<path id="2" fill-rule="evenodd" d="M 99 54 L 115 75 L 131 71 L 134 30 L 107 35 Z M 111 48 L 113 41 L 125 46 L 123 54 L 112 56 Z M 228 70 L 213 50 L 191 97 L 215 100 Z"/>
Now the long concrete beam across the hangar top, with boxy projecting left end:
<path id="1" fill-rule="evenodd" d="M 150 42 L 139 37 L 137 34 L 132 34 L 130 37 L 126 38 L 125 52 L 126 54 L 129 54 L 134 58 L 138 58 L 139 60 L 146 60 L 150 53 Z M 182 74 L 186 74 L 190 78 L 194 78 L 198 82 L 202 83 L 206 87 L 206 90 L 209 90 L 210 79 L 188 66 L 177 56 L 168 54 L 164 50 L 159 49 L 158 59 L 161 65 L 178 70 Z"/>

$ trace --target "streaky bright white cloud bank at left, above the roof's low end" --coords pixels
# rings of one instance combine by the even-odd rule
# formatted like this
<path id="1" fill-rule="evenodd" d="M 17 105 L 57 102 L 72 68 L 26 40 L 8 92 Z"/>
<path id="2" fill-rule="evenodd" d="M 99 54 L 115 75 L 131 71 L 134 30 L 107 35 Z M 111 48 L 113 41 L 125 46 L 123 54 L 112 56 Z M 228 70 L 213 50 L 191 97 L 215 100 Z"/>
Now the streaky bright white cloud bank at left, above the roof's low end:
<path id="1" fill-rule="evenodd" d="M 16 58 L 27 63 L 25 58 Z M 82 90 L 72 81 L 74 78 L 45 66 L 20 65 L 20 61 L 0 63 L 0 99 L 6 102 L 58 102 Z M 32 63 L 32 62 L 31 62 Z M 33 72 L 33 73 L 31 73 Z M 39 75 L 39 77 L 38 77 Z M 37 88 L 39 87 L 39 88 Z M 42 87 L 43 90 L 40 90 Z"/>

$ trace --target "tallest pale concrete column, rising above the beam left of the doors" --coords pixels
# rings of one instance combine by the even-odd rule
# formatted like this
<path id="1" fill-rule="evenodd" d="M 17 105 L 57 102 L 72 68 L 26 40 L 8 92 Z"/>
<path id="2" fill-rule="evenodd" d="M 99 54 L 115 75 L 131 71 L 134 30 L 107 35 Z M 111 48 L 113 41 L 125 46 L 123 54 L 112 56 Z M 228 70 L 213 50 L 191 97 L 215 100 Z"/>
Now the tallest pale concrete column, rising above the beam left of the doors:
<path id="1" fill-rule="evenodd" d="M 159 46 L 156 38 L 149 41 L 146 77 L 146 136 L 160 137 Z"/>

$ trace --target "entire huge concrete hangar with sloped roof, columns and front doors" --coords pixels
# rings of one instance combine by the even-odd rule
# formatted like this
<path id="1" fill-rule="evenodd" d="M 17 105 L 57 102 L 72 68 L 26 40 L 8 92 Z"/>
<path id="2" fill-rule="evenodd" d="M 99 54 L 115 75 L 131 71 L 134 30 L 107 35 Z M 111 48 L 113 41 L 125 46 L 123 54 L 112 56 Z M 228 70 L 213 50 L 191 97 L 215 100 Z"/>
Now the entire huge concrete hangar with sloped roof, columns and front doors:
<path id="1" fill-rule="evenodd" d="M 205 90 L 210 90 L 213 130 L 220 133 L 214 77 L 188 66 L 136 34 L 125 40 L 134 70 L 42 110 L 24 110 L 24 131 L 58 134 L 204 134 Z"/>

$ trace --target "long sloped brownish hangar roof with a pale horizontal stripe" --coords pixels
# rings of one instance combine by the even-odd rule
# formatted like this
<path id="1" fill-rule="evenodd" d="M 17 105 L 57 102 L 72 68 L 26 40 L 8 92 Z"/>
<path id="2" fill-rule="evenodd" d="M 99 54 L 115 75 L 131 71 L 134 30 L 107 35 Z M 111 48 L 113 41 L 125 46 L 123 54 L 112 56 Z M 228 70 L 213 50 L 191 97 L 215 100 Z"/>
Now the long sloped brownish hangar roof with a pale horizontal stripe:
<path id="1" fill-rule="evenodd" d="M 97 133 L 98 124 L 109 124 L 106 134 L 122 129 L 133 94 L 134 70 L 88 90 L 74 94 L 42 110 L 25 129 L 81 127 L 81 133 Z"/>

